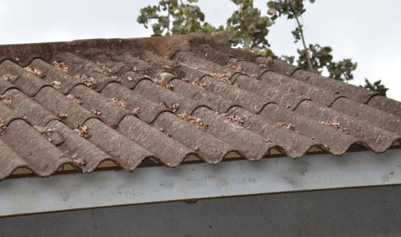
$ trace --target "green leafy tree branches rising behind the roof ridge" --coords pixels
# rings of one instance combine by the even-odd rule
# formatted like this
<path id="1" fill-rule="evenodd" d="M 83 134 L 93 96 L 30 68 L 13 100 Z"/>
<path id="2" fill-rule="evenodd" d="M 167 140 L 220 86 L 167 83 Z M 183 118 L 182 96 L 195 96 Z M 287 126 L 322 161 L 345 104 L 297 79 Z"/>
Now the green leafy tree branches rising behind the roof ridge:
<path id="1" fill-rule="evenodd" d="M 138 23 L 146 28 L 151 26 L 153 36 L 190 34 L 195 32 L 214 32 L 217 30 L 230 30 L 235 36 L 232 45 L 242 49 L 259 53 L 266 57 L 278 58 L 290 64 L 296 64 L 315 73 L 327 73 L 330 77 L 347 82 L 354 79 L 357 63 L 351 58 L 335 61 L 332 48 L 319 44 L 306 44 L 302 15 L 306 12 L 305 3 L 314 3 L 315 0 L 269 0 L 267 1 L 268 15 L 263 16 L 258 8 L 254 7 L 253 0 L 230 0 L 237 5 L 226 28 L 214 27 L 205 21 L 205 15 L 197 0 L 160 0 L 158 5 L 148 5 L 140 10 Z M 269 27 L 279 17 L 295 21 L 296 27 L 291 32 L 294 42 L 302 42 L 302 48 L 297 49 L 297 55 L 282 55 L 278 57 L 271 49 L 267 40 Z M 369 90 L 376 90 L 385 95 L 388 88 L 381 81 L 373 84 L 365 79 L 361 86 Z"/>

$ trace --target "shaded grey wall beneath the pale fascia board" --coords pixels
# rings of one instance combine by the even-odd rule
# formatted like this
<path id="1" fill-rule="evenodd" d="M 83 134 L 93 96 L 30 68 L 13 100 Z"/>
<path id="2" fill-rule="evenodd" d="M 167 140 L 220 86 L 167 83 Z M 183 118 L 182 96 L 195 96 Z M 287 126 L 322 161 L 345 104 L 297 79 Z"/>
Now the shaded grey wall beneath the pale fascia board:
<path id="1" fill-rule="evenodd" d="M 0 219 L 0 236 L 401 236 L 401 186 Z"/>

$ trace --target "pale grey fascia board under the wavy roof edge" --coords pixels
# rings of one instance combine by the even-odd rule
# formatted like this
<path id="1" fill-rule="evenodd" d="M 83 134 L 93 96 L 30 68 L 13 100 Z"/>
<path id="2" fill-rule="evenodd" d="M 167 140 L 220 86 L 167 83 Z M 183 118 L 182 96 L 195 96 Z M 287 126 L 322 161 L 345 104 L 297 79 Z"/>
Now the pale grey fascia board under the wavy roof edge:
<path id="1" fill-rule="evenodd" d="M 341 158 L 305 155 L 300 160 L 234 160 L 218 166 L 186 164 L 24 177 L 0 183 L 0 216 L 117 205 L 208 199 L 401 184 L 401 149 L 358 151 Z"/>

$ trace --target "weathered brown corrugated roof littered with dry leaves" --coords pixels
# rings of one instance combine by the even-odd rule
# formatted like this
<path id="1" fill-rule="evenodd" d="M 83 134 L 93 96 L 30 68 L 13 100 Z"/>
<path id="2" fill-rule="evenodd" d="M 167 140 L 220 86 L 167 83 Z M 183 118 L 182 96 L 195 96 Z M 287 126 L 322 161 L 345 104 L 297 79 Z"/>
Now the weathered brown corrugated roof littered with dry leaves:
<path id="1" fill-rule="evenodd" d="M 401 103 L 232 49 L 226 33 L 0 47 L 0 179 L 111 160 L 300 158 L 401 138 Z"/>

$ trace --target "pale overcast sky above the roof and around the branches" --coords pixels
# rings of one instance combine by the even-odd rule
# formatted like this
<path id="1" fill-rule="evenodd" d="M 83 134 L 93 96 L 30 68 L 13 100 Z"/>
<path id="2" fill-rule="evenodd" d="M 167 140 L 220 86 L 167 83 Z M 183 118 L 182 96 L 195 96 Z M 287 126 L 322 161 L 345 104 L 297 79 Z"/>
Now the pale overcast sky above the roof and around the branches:
<path id="1" fill-rule="evenodd" d="M 136 23 L 140 8 L 159 0 L 0 0 L 0 45 L 77 40 L 85 38 L 136 38 L 151 30 Z M 263 14 L 267 0 L 255 0 Z M 212 25 L 225 25 L 236 9 L 228 0 L 199 0 Z M 352 84 L 363 78 L 382 79 L 387 96 L 401 101 L 400 0 L 317 0 L 306 5 L 302 21 L 307 43 L 331 46 L 335 60 L 358 62 Z M 280 19 L 268 40 L 278 55 L 295 55 L 291 36 L 295 23 Z"/>

